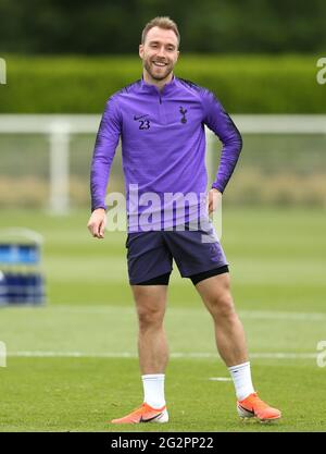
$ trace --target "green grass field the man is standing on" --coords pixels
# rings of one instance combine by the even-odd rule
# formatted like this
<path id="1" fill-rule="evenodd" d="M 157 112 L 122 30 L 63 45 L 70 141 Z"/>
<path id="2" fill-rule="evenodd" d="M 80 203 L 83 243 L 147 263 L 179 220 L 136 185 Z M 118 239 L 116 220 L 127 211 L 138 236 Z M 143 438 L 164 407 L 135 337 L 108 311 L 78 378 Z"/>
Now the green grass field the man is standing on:
<path id="1" fill-rule="evenodd" d="M 105 421 L 141 403 L 136 316 L 127 284 L 125 234 L 91 238 L 88 211 L 55 218 L 1 211 L 1 229 L 45 236 L 48 304 L 2 308 L 1 431 L 162 431 Z M 223 238 L 233 293 L 260 395 L 279 407 L 276 425 L 242 422 L 217 357 L 213 323 L 192 284 L 174 270 L 166 331 L 171 363 L 166 431 L 325 431 L 326 237 L 322 209 L 227 209 Z"/>

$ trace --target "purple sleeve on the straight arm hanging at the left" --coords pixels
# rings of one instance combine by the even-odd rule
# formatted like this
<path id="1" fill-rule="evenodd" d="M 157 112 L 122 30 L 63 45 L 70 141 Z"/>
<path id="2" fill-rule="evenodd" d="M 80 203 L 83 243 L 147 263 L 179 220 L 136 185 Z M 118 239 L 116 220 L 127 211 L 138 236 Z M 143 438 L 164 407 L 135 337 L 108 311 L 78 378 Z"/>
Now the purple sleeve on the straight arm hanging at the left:
<path id="1" fill-rule="evenodd" d="M 121 135 L 121 120 L 114 98 L 106 102 L 98 131 L 90 171 L 91 210 L 104 208 L 109 175 Z"/>

